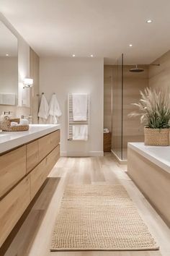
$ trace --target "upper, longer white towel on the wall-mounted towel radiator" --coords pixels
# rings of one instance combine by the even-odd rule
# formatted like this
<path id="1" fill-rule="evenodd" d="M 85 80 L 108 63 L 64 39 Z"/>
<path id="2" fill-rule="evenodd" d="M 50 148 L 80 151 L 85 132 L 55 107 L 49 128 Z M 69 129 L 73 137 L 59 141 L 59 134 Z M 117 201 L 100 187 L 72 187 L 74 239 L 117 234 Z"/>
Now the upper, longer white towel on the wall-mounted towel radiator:
<path id="1" fill-rule="evenodd" d="M 86 121 L 87 94 L 73 93 L 73 121 Z"/>

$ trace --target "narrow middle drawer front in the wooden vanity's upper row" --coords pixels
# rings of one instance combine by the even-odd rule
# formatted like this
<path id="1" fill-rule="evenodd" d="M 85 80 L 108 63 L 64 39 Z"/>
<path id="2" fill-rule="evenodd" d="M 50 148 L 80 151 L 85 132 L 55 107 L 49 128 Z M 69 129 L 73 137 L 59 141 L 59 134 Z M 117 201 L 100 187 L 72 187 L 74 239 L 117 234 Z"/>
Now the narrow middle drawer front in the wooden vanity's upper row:
<path id="1" fill-rule="evenodd" d="M 27 173 L 38 163 L 38 140 L 27 144 Z"/>

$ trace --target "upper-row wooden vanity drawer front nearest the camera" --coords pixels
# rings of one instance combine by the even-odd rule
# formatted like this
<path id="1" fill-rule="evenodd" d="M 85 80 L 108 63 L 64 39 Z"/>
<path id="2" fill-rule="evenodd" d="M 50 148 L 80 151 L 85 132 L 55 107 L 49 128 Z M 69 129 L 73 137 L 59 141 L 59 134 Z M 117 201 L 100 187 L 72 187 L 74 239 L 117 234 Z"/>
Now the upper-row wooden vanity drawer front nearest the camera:
<path id="1" fill-rule="evenodd" d="M 0 156 L 0 197 L 26 174 L 26 146 Z"/>

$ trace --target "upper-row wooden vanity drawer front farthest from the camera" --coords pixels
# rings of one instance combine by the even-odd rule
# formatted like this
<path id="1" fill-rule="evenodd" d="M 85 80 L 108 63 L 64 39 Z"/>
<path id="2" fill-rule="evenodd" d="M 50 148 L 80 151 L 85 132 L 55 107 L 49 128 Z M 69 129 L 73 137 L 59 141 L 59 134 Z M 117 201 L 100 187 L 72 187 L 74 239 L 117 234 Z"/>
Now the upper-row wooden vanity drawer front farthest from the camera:
<path id="1" fill-rule="evenodd" d="M 60 130 L 38 140 L 39 161 L 45 158 L 60 142 Z"/>

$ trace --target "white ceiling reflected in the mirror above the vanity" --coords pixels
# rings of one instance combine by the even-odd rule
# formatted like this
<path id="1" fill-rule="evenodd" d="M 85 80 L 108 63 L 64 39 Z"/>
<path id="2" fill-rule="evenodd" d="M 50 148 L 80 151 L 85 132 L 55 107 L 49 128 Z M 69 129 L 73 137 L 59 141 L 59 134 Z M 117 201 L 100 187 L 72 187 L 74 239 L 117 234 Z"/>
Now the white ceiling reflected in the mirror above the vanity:
<path id="1" fill-rule="evenodd" d="M 0 56 L 5 57 L 17 56 L 17 38 L 12 32 L 0 21 Z"/>

